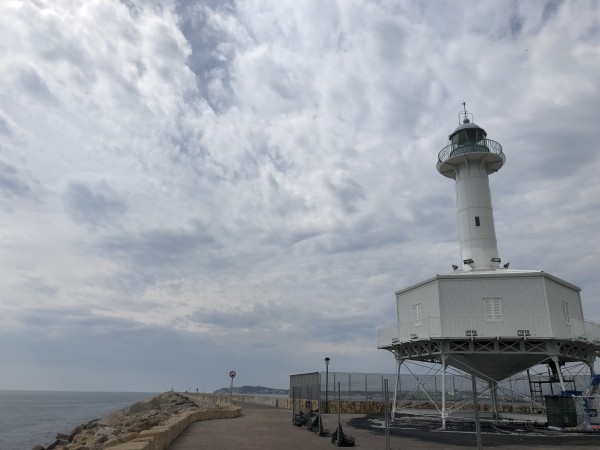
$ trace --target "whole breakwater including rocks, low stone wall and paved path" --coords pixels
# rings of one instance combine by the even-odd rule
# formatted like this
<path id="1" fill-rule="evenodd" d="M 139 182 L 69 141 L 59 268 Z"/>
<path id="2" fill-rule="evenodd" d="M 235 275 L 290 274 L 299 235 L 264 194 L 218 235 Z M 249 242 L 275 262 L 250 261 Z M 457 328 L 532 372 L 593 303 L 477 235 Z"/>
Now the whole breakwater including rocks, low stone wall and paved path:
<path id="1" fill-rule="evenodd" d="M 289 407 L 291 399 L 285 397 L 169 392 L 78 427 L 72 436 L 63 436 L 64 442 L 46 450 L 318 450 L 335 446 L 330 437 L 293 426 Z M 164 417 L 156 423 L 161 410 Z M 385 448 L 383 416 L 341 413 L 339 417 L 344 433 L 354 437 L 357 448 Z M 323 427 L 330 432 L 337 421 L 337 413 L 322 415 Z M 469 424 L 451 425 L 442 430 L 437 418 L 403 417 L 392 424 L 390 449 L 475 447 Z M 495 449 L 597 448 L 600 443 L 598 435 L 559 433 L 543 427 L 498 431 L 492 422 L 489 425 L 484 427 L 483 443 Z"/>

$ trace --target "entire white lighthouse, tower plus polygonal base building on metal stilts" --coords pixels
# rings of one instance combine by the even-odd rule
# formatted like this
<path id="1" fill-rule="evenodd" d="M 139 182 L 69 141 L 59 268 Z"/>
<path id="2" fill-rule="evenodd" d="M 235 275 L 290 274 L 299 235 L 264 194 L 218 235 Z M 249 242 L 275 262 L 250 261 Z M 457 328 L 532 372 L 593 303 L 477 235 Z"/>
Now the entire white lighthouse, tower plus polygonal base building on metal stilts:
<path id="1" fill-rule="evenodd" d="M 548 364 L 565 390 L 565 363 L 593 373 L 600 326 L 584 319 L 577 286 L 501 265 L 488 177 L 506 161 L 502 146 L 466 110 L 449 139 L 437 169 L 455 180 L 462 267 L 396 292 L 397 323 L 379 330 L 378 347 L 398 374 L 405 361 L 426 361 L 441 364 L 443 384 L 448 366 L 486 381 L 498 417 L 496 388 L 512 375 Z M 442 386 L 444 423 L 445 395 Z"/>

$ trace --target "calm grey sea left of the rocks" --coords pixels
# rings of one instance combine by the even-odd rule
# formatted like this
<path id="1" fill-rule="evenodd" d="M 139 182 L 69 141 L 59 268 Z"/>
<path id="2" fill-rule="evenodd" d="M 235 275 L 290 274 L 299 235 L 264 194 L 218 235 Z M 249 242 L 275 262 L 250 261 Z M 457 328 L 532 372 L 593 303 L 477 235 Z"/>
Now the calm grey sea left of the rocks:
<path id="1" fill-rule="evenodd" d="M 50 392 L 0 390 L 0 450 L 31 450 L 69 434 L 77 425 L 98 419 L 153 392 Z"/>

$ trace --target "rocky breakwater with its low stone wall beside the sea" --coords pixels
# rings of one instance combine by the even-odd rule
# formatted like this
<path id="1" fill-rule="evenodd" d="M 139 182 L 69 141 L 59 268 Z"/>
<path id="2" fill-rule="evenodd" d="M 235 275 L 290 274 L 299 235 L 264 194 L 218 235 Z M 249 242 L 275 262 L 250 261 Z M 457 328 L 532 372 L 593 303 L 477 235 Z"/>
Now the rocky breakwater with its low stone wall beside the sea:
<path id="1" fill-rule="evenodd" d="M 58 434 L 48 447 L 38 445 L 32 450 L 125 450 L 130 448 L 128 443 L 131 448 L 163 450 L 197 420 L 239 415 L 240 408 L 220 404 L 201 408 L 186 395 L 166 392 L 91 420 L 69 435 Z"/>

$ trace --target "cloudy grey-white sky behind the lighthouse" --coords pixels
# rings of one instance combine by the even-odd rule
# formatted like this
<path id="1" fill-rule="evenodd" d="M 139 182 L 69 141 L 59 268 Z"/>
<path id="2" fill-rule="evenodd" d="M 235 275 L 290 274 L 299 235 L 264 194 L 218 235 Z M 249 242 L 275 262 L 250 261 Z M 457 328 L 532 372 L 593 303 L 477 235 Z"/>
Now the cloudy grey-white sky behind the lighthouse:
<path id="1" fill-rule="evenodd" d="M 600 322 L 598 1 L 1 2 L 0 389 L 393 373 L 463 101 L 503 262 Z"/>

